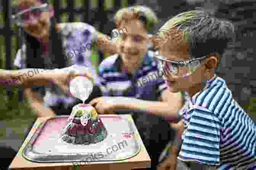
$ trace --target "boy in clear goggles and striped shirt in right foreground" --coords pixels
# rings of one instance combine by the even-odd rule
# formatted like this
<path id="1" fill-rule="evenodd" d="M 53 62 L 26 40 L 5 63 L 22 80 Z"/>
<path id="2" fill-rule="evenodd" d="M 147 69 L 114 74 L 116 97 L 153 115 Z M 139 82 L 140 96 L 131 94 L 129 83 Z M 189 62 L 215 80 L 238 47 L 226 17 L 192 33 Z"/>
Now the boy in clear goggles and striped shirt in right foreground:
<path id="1" fill-rule="evenodd" d="M 256 169 L 256 125 L 214 74 L 233 36 L 232 24 L 195 10 L 168 20 L 154 37 L 168 89 L 188 95 L 177 152 L 191 169 Z M 159 170 L 176 169 L 175 144 L 166 146 Z"/>

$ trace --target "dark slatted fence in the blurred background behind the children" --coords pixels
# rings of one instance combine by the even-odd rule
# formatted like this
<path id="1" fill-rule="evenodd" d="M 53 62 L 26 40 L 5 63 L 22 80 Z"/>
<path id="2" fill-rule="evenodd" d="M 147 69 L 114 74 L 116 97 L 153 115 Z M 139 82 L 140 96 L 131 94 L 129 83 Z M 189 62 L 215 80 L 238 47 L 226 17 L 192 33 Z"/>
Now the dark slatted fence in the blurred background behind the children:
<path id="1" fill-rule="evenodd" d="M 108 34 L 111 30 L 111 23 L 110 22 L 110 16 L 112 16 L 119 8 L 123 6 L 130 6 L 134 5 L 136 3 L 136 0 L 107 0 L 108 2 L 111 1 L 112 6 L 110 8 L 105 8 L 106 1 L 104 0 L 98 0 L 97 6 L 95 8 L 91 8 L 91 2 L 94 0 L 82 0 L 82 6 L 77 7 L 75 6 L 75 1 L 73 0 L 65 0 L 67 3 L 66 8 L 63 8 L 61 4 L 63 3 L 63 0 L 53 0 L 54 5 L 54 11 L 55 11 L 55 17 L 57 22 L 61 22 L 61 16 L 63 14 L 67 14 L 68 20 L 67 22 L 74 22 L 75 17 L 82 16 L 82 19 L 80 22 L 85 22 L 90 25 L 93 25 L 97 30 Z M 13 54 L 13 42 L 12 38 L 13 36 L 21 37 L 22 31 L 21 30 L 12 30 L 12 22 L 11 22 L 11 15 L 12 15 L 12 1 L 11 0 L 3 0 L 1 1 L 2 4 L 1 11 L 3 13 L 3 19 L 4 19 L 4 25 L 1 28 L 0 27 L 0 36 L 5 37 L 5 51 L 6 51 L 6 60 L 5 65 L 6 69 L 11 70 L 13 69 L 13 60 L 12 56 Z M 1 12 L 0 11 L 0 12 Z M 110 27 L 109 27 L 110 25 Z M 107 26 L 107 27 L 106 27 Z M 114 28 L 114 25 L 112 25 Z M 107 29 L 106 29 L 107 28 Z M 112 28 L 112 29 L 113 29 Z M 21 45 L 22 45 L 22 39 L 17 38 L 17 51 Z M 3 54 L 1 52 L 0 48 L 0 54 Z M 98 63 L 101 62 L 103 59 L 103 54 L 99 52 L 98 55 Z M 0 63 L 2 65 L 2 63 Z M 12 87 L 7 86 L 7 95 L 11 99 L 13 96 Z M 19 101 L 22 101 L 24 99 L 24 89 L 22 87 L 19 87 Z"/>

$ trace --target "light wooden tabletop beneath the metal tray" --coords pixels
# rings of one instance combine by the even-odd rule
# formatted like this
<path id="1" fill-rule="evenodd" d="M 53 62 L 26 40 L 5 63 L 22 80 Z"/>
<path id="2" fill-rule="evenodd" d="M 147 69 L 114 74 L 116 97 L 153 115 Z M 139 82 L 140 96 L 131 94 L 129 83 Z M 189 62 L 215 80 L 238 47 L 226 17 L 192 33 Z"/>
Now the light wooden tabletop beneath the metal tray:
<path id="1" fill-rule="evenodd" d="M 111 115 L 110 115 L 111 116 Z M 112 115 L 113 116 L 113 115 Z M 124 117 L 128 117 L 132 120 L 131 115 L 120 115 Z M 18 154 L 14 157 L 13 162 L 10 165 L 10 169 L 13 170 L 73 170 L 74 164 L 72 162 L 66 163 L 37 163 L 31 162 L 25 159 L 22 156 L 22 151 L 25 146 L 32 138 L 32 135 L 35 133 L 37 127 L 43 122 L 53 117 L 40 117 L 37 118 L 34 126 L 32 127 L 29 135 L 27 136 L 25 142 L 22 144 L 21 148 L 18 151 Z M 132 121 L 134 123 L 134 121 Z M 134 131 L 134 134 L 139 134 L 138 130 Z M 78 169 L 104 169 L 104 170 L 132 170 L 132 169 L 140 169 L 140 168 L 149 168 L 150 167 L 150 157 L 146 151 L 144 144 L 142 143 L 141 137 L 138 135 L 138 142 L 141 145 L 140 152 L 130 159 L 125 159 L 123 161 L 104 161 L 104 162 L 91 162 L 90 164 L 81 164 Z"/>

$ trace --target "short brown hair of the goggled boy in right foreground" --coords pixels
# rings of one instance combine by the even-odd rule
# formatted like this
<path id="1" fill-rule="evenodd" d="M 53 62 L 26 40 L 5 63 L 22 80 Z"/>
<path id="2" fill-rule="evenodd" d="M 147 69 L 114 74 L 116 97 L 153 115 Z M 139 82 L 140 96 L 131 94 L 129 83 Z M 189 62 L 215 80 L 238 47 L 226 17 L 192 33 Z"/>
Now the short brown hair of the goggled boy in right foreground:
<path id="1" fill-rule="evenodd" d="M 191 57 L 200 58 L 209 54 L 222 55 L 234 36 L 234 26 L 230 22 L 200 9 L 180 13 L 168 20 L 153 42 L 154 47 L 159 48 L 170 40 L 170 46 L 187 46 Z"/>

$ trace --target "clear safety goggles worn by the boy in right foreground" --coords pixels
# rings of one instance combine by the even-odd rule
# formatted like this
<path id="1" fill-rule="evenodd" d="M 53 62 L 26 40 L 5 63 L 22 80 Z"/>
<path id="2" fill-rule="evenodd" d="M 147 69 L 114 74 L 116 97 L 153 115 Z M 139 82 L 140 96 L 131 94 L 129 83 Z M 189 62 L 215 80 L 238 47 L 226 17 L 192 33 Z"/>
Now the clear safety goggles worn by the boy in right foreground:
<path id="1" fill-rule="evenodd" d="M 187 77 L 195 72 L 196 68 L 201 66 L 201 61 L 205 60 L 207 55 L 188 61 L 167 60 L 163 55 L 155 55 L 154 57 L 160 61 L 160 69 L 165 74 L 172 74 L 176 77 Z"/>

